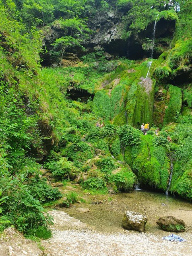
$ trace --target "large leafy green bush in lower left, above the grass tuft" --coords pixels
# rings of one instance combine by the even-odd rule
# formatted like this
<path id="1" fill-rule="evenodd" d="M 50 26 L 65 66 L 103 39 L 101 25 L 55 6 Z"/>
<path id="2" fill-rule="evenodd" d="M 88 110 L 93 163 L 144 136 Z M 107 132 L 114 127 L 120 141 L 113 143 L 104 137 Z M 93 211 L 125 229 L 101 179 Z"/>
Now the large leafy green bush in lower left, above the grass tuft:
<path id="1" fill-rule="evenodd" d="M 45 214 L 44 208 L 30 192 L 28 185 L 20 182 L 16 177 L 1 177 L 2 188 L 1 220 L 9 221 L 8 226 L 14 225 L 20 232 L 25 232 L 34 226 L 44 226 L 52 223 L 49 214 Z M 4 227 L 6 225 L 4 224 Z"/>

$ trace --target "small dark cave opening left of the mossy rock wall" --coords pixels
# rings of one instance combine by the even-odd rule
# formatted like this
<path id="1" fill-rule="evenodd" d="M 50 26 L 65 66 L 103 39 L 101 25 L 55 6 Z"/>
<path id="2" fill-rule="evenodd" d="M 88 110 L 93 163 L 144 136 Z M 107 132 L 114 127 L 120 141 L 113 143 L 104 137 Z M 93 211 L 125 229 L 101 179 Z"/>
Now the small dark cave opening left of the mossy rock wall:
<path id="1" fill-rule="evenodd" d="M 71 100 L 80 100 L 81 102 L 86 102 L 87 100 L 93 100 L 94 95 L 89 93 L 87 90 L 69 87 L 67 89 L 67 94 Z"/>

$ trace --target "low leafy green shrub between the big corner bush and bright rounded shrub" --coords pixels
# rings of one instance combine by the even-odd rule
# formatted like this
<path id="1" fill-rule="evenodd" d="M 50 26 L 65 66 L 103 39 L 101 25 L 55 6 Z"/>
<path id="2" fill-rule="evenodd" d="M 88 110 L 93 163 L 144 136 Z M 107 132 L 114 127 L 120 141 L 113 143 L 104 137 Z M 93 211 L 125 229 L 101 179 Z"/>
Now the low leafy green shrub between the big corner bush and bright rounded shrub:
<path id="1" fill-rule="evenodd" d="M 57 200 L 62 197 L 57 188 L 52 188 L 51 185 L 47 184 L 46 178 L 40 178 L 38 175 L 30 179 L 29 189 L 34 198 L 41 202 Z"/>

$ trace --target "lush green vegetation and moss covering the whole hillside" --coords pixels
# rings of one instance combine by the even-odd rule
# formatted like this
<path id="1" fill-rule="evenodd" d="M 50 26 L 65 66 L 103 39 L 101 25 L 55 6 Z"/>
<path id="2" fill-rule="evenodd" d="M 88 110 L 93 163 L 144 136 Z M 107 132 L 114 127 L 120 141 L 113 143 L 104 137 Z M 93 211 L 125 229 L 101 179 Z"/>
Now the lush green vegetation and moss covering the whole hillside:
<path id="1" fill-rule="evenodd" d="M 121 39 L 86 49 L 89 20 L 111 11 L 122 13 L 121 38 L 139 40 L 145 55 L 152 41 L 143 34 L 158 14 L 175 26 L 173 38 L 156 38 L 161 55 L 148 79 L 149 60 L 118 57 Z M 44 207 L 84 202 L 63 195 L 68 181 L 90 194 L 131 191 L 137 181 L 166 191 L 171 156 L 170 193 L 191 200 L 191 17 L 189 1 L 0 0 L 0 231 L 49 238 Z"/>

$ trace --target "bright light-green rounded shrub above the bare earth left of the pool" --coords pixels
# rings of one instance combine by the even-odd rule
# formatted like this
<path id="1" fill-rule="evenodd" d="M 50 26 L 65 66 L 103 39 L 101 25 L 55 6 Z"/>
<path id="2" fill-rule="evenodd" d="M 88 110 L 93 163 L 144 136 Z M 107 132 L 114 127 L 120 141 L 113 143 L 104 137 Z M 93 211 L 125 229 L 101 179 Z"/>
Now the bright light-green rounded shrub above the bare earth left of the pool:
<path id="1" fill-rule="evenodd" d="M 46 166 L 52 171 L 52 174 L 57 179 L 75 179 L 79 170 L 73 165 L 67 158 L 62 157 L 59 161 L 52 161 L 46 164 Z"/>

